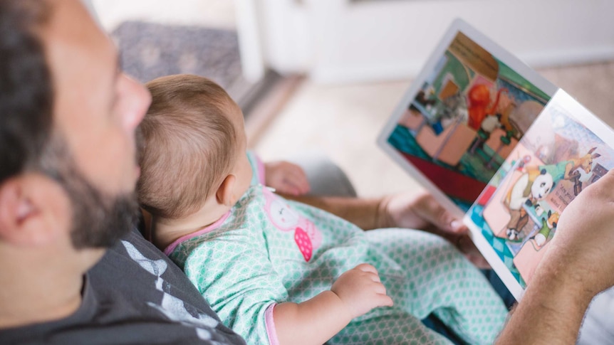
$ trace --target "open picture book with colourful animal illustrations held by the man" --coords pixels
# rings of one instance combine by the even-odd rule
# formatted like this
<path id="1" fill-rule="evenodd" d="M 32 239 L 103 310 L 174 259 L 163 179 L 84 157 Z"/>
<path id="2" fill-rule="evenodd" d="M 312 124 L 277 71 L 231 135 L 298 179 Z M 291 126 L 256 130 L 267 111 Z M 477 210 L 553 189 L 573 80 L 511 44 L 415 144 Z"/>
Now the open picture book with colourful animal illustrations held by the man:
<path id="1" fill-rule="evenodd" d="M 614 131 L 454 21 L 378 144 L 462 218 L 520 299 L 566 206 L 614 167 Z"/>

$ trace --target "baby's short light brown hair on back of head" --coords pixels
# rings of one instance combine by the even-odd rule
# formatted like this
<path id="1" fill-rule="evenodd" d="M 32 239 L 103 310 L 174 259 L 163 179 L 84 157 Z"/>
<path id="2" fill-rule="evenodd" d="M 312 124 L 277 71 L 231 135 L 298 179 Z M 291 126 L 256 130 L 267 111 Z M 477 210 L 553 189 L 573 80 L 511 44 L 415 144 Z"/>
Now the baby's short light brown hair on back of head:
<path id="1" fill-rule="evenodd" d="M 239 107 L 222 87 L 197 75 L 146 84 L 152 104 L 140 124 L 137 197 L 148 212 L 177 219 L 198 211 L 229 174 Z"/>

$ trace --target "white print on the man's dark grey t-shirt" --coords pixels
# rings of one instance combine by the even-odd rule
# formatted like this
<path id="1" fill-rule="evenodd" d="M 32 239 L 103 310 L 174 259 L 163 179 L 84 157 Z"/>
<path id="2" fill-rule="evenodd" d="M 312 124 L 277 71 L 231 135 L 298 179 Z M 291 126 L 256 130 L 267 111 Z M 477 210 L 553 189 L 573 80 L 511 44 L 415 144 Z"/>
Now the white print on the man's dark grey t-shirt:
<path id="1" fill-rule="evenodd" d="M 162 302 L 160 304 L 155 304 L 155 302 L 147 302 L 147 305 L 157 309 L 172 321 L 181 322 L 184 325 L 194 327 L 200 339 L 211 339 L 211 333 L 207 331 L 207 329 L 217 327 L 219 322 L 207 314 L 199 313 L 197 316 L 190 314 L 187 309 L 185 309 L 184 303 L 181 299 L 178 299 L 177 297 L 172 296 L 163 290 L 162 287 L 164 286 L 165 281 L 161 276 L 168 268 L 167 262 L 161 259 L 150 260 L 145 258 L 145 256 L 142 255 L 142 253 L 140 253 L 140 251 L 137 250 L 137 248 L 135 248 L 135 246 L 130 242 L 123 240 L 122 244 L 126 248 L 126 251 L 132 260 L 135 260 L 140 267 L 157 277 L 155 287 L 158 291 L 162 292 Z"/>

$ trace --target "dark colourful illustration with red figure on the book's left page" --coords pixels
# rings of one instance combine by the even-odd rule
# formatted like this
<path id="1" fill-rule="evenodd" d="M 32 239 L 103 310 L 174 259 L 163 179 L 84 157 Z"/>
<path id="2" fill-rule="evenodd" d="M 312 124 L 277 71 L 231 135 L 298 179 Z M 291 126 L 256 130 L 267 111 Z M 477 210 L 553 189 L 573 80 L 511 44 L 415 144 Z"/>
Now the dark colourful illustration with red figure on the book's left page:
<path id="1" fill-rule="evenodd" d="M 550 97 L 462 32 L 419 83 L 387 142 L 467 211 Z"/>

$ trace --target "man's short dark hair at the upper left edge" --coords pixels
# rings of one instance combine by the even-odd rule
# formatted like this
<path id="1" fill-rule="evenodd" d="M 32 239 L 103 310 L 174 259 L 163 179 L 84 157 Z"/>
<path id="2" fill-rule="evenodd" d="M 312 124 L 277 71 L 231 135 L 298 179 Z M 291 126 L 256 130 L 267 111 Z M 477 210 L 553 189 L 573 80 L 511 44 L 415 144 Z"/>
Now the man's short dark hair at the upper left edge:
<path id="1" fill-rule="evenodd" d="M 36 31 L 45 1 L 0 0 L 0 184 L 37 169 L 51 135 L 53 86 Z"/>

